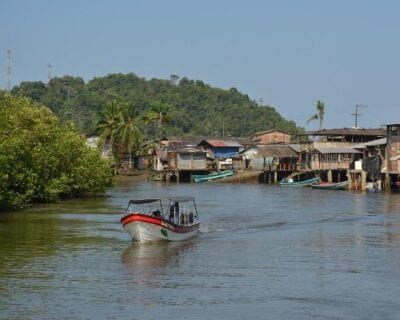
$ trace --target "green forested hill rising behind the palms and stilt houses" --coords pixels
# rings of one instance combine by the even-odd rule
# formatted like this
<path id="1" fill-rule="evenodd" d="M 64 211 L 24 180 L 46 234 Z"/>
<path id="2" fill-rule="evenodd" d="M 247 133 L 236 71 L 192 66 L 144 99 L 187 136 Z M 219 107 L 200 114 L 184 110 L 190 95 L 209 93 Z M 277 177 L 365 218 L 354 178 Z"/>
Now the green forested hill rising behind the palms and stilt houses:
<path id="1" fill-rule="evenodd" d="M 279 128 L 295 133 L 296 124 L 273 107 L 260 105 L 237 89 L 213 88 L 200 80 L 171 76 L 168 80 L 110 74 L 85 83 L 82 78 L 53 78 L 22 82 L 12 94 L 30 97 L 50 107 L 62 121 L 73 121 L 85 133 L 95 130 L 97 114 L 111 102 L 133 103 L 143 113 L 154 101 L 169 105 L 168 135 L 219 135 L 247 137 Z"/>

